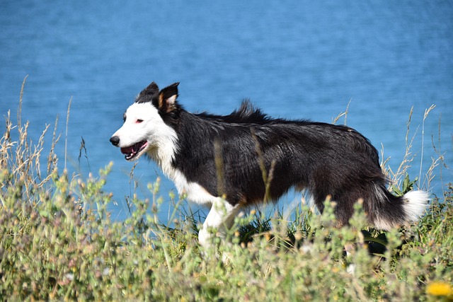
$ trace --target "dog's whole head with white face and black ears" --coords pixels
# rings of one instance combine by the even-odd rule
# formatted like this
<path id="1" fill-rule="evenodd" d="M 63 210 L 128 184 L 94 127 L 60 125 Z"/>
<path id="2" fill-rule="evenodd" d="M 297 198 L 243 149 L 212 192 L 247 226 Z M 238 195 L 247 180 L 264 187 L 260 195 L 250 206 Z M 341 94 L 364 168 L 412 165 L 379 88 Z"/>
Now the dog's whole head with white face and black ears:
<path id="1" fill-rule="evenodd" d="M 176 100 L 178 84 L 173 83 L 159 91 L 152 82 L 127 108 L 124 124 L 110 137 L 110 142 L 121 148 L 127 161 L 174 142 L 176 133 L 170 124 L 180 112 Z"/>

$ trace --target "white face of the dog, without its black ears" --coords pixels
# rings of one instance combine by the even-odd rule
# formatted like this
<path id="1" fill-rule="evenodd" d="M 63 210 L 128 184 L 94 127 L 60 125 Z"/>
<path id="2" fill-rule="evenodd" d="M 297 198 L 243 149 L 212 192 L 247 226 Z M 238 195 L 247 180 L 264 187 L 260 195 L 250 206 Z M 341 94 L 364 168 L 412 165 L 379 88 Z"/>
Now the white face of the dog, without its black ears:
<path id="1" fill-rule="evenodd" d="M 113 134 L 127 161 L 136 160 L 147 151 L 173 142 L 176 133 L 164 123 L 151 103 L 134 103 L 125 112 L 125 123 Z"/>

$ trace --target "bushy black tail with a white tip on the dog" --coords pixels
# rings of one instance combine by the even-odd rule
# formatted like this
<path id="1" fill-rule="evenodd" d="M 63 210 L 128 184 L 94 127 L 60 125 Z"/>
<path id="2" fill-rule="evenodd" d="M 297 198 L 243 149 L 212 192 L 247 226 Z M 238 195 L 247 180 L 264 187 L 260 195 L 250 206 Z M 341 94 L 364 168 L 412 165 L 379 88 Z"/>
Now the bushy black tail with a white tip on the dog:
<path id="1" fill-rule="evenodd" d="M 396 197 L 384 187 L 377 190 L 382 198 L 369 213 L 369 218 L 374 226 L 385 231 L 418 221 L 430 199 L 428 192 L 421 190 L 407 192 L 401 197 Z"/>

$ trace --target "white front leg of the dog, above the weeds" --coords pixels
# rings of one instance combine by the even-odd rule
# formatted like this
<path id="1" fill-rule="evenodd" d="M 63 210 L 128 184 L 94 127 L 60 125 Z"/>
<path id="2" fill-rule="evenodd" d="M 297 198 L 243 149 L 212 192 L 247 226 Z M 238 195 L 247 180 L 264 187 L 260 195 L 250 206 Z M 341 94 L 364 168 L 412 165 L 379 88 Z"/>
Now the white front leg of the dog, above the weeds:
<path id="1" fill-rule="evenodd" d="M 235 206 L 226 202 L 225 199 L 217 197 L 206 216 L 205 223 L 198 233 L 198 241 L 203 248 L 209 248 L 212 243 L 212 234 L 219 238 L 225 238 L 226 232 L 231 228 L 234 217 L 238 214 L 240 204 Z"/>

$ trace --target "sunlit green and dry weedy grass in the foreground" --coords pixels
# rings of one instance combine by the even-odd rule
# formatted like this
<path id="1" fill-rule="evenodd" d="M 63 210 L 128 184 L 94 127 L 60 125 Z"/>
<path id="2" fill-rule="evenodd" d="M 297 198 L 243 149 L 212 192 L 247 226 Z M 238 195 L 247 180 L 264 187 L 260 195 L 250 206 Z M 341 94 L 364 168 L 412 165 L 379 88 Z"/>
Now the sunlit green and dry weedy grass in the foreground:
<path id="1" fill-rule="evenodd" d="M 112 195 L 103 185 L 112 164 L 96 176 L 69 175 L 58 169 L 56 126 L 44 157 L 48 127 L 34 143 L 28 123 L 18 121 L 13 126 L 8 115 L 0 139 L 2 301 L 453 299 L 451 184 L 442 197 L 433 196 L 429 213 L 410 228 L 369 229 L 357 204 L 351 226 L 336 229 L 330 202 L 321 216 L 301 203 L 291 215 L 243 213 L 229 243 L 202 252 L 194 214 L 178 207 L 175 217 L 185 218 L 173 228 L 157 219 L 164 199 L 181 202 L 162 197 L 159 180 L 149 185 L 151 200 L 130 197 L 130 216 L 111 221 Z M 412 157 L 404 161 L 398 173 L 389 173 L 398 194 L 415 183 L 405 168 Z"/>

